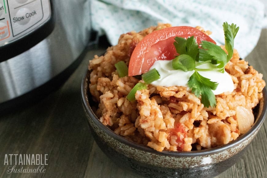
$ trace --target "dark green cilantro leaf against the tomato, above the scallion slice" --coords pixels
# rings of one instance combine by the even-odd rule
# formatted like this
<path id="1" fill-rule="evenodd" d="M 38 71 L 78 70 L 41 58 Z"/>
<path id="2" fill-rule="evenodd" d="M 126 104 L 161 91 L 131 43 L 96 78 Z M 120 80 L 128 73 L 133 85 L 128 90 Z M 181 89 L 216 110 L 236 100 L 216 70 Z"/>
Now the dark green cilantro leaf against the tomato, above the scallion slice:
<path id="1" fill-rule="evenodd" d="M 194 36 L 184 39 L 182 37 L 175 37 L 174 46 L 178 54 L 187 54 L 191 56 L 194 60 L 198 54 L 198 44 Z"/>

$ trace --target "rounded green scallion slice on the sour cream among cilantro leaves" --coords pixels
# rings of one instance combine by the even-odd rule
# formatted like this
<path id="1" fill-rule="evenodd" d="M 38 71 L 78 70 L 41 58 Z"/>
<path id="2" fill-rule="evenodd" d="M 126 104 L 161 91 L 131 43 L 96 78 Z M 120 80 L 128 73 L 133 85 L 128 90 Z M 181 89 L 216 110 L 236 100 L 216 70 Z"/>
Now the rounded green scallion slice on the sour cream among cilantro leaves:
<path id="1" fill-rule="evenodd" d="M 195 69 L 195 60 L 187 54 L 181 54 L 172 60 L 172 68 L 192 71 Z"/>

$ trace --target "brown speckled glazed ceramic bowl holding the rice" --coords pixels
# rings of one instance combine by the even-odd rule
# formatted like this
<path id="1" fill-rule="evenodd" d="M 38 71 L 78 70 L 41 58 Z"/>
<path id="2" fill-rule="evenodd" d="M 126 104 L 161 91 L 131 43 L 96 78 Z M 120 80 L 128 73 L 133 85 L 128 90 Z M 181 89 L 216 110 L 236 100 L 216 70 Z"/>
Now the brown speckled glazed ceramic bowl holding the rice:
<path id="1" fill-rule="evenodd" d="M 145 177 L 214 177 L 230 168 L 256 136 L 266 115 L 266 88 L 263 99 L 254 109 L 255 122 L 251 129 L 229 144 L 211 149 L 174 152 L 157 152 L 115 134 L 104 126 L 94 114 L 88 83 L 90 72 L 83 77 L 82 103 L 89 127 L 100 149 L 120 167 L 133 169 Z"/>

